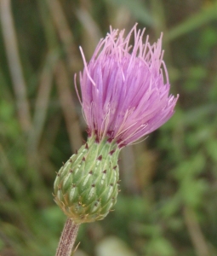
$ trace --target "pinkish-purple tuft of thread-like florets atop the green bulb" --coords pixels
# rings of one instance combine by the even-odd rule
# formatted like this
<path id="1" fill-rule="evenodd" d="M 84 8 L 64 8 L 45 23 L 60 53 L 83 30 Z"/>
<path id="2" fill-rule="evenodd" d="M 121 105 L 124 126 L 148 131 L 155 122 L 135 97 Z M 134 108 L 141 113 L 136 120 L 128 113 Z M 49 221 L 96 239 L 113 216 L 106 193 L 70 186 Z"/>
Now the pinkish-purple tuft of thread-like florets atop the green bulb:
<path id="1" fill-rule="evenodd" d="M 89 134 L 115 139 L 119 147 L 134 143 L 155 131 L 174 113 L 179 96 L 169 95 L 167 68 L 163 62 L 162 36 L 156 44 L 136 25 L 124 31 L 112 30 L 100 40 L 89 63 L 80 73 L 84 118 Z M 134 45 L 129 45 L 134 35 Z"/>

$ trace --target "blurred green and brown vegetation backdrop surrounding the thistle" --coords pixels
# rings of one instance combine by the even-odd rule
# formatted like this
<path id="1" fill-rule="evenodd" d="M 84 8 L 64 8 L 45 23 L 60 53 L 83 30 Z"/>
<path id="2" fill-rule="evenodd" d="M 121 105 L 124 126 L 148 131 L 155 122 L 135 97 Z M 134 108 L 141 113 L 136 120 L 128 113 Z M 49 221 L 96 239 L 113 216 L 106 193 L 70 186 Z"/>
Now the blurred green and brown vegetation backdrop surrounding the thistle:
<path id="1" fill-rule="evenodd" d="M 217 1 L 0 0 L 0 255 L 51 256 L 55 172 L 86 137 L 73 75 L 109 26 L 163 32 L 174 117 L 124 148 L 121 193 L 78 255 L 217 255 Z"/>

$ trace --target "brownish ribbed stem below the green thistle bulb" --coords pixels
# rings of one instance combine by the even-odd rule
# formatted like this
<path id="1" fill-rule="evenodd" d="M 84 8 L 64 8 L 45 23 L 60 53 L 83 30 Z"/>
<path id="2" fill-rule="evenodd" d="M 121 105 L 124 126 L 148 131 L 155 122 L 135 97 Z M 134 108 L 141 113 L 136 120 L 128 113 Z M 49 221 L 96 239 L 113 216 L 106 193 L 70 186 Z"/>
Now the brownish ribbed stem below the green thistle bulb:
<path id="1" fill-rule="evenodd" d="M 75 224 L 71 218 L 67 218 L 55 256 L 71 256 L 78 228 L 79 224 Z"/>

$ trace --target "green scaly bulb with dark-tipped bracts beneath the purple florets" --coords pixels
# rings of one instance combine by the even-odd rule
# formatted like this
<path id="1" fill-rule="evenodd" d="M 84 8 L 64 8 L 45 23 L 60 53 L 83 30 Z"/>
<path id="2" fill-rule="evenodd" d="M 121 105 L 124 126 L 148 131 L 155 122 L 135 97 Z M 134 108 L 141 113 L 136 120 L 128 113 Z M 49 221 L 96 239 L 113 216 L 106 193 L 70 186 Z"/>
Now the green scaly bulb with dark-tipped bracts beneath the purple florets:
<path id="1" fill-rule="evenodd" d="M 54 182 L 54 201 L 75 223 L 106 217 L 117 201 L 119 171 L 117 143 L 107 137 L 89 137 L 66 164 Z"/>

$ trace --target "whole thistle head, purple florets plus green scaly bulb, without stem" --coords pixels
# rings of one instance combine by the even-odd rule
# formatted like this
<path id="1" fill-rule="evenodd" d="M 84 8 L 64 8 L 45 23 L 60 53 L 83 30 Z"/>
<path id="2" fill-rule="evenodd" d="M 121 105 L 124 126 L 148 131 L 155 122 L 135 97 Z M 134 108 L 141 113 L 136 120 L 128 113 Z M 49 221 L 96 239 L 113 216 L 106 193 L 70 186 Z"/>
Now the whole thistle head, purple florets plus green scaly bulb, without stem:
<path id="1" fill-rule="evenodd" d="M 123 38 L 124 31 L 111 29 L 89 63 L 81 49 L 82 98 L 78 90 L 77 95 L 89 137 L 54 183 L 54 200 L 77 224 L 106 217 L 117 201 L 121 148 L 155 131 L 174 113 L 178 96 L 169 95 L 162 35 L 157 44 L 148 37 L 143 44 L 144 32 L 135 25 Z"/>

